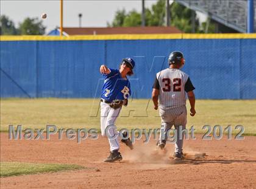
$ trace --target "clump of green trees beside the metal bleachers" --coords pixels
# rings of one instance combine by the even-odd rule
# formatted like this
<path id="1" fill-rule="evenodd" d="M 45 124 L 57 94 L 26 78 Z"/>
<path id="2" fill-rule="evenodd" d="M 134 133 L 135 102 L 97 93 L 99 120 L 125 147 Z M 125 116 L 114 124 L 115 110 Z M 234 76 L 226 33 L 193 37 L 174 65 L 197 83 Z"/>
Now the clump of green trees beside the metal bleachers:
<path id="1" fill-rule="evenodd" d="M 166 1 L 158 0 L 156 4 L 153 4 L 151 9 L 145 9 L 146 26 L 165 26 L 165 15 L 166 15 Z M 170 5 L 170 17 L 171 26 L 177 27 L 185 33 L 192 32 L 192 15 L 196 15 L 194 10 L 188 9 L 187 7 L 172 2 Z M 131 27 L 141 26 L 141 14 L 132 10 L 126 13 L 125 10 L 118 10 L 112 24 L 108 24 L 108 27 Z M 199 19 L 195 18 L 195 32 L 204 33 L 205 24 L 200 26 Z M 214 33 L 214 27 L 212 25 L 208 27 L 208 33 Z"/>

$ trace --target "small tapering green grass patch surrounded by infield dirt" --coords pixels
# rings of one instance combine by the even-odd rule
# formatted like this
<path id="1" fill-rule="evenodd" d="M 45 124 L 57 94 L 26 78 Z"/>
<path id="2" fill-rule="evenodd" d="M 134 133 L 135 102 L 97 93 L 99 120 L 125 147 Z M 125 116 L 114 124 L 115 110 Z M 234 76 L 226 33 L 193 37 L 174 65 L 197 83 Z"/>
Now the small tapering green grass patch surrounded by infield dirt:
<path id="1" fill-rule="evenodd" d="M 80 165 L 63 165 L 51 163 L 20 163 L 1 162 L 1 177 L 18 176 L 21 174 L 48 173 L 64 170 L 80 170 Z"/>

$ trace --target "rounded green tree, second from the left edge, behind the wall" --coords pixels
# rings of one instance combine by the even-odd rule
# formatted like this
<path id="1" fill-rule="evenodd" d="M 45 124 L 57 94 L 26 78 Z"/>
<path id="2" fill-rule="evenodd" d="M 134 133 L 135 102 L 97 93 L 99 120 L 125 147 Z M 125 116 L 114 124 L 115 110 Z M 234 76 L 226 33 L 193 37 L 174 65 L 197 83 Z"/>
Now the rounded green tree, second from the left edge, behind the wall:
<path id="1" fill-rule="evenodd" d="M 21 35 L 43 35 L 46 27 L 38 18 L 26 18 L 20 24 L 19 29 Z"/>

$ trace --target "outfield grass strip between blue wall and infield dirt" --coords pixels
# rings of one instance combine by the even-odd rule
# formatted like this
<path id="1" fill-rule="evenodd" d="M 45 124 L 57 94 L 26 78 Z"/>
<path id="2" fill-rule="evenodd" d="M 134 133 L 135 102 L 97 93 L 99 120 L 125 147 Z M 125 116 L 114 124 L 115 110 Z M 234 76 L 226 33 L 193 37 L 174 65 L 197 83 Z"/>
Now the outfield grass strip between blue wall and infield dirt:
<path id="1" fill-rule="evenodd" d="M 189 103 L 187 102 L 189 109 Z M 187 128 L 205 133 L 204 125 L 243 125 L 244 134 L 256 136 L 256 100 L 197 100 L 195 117 L 188 115 Z M 25 128 L 100 128 L 99 100 L 38 98 L 1 99 L 1 131 L 9 125 Z M 124 107 L 116 126 L 120 128 L 159 128 L 160 117 L 151 100 L 134 99 Z"/>

